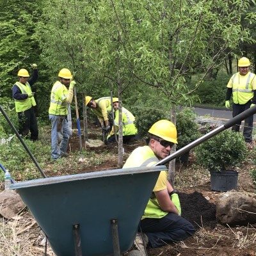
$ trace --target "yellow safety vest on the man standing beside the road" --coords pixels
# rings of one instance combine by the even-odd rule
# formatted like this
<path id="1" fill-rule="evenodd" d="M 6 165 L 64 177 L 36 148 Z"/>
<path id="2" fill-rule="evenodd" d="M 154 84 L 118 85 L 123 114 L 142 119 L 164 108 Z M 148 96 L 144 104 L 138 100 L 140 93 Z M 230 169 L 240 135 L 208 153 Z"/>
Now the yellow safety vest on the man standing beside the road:
<path id="1" fill-rule="evenodd" d="M 256 90 L 255 74 L 248 72 L 245 76 L 241 76 L 237 72 L 230 78 L 227 87 L 232 88 L 234 103 L 246 104 L 253 98 L 253 90 Z"/>

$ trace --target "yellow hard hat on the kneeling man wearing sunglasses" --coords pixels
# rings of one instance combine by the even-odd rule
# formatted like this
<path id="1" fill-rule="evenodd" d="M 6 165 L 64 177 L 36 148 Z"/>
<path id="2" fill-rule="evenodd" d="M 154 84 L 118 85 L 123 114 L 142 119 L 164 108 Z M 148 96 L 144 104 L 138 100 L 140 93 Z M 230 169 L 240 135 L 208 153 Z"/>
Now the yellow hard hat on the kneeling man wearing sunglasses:
<path id="1" fill-rule="evenodd" d="M 157 121 L 151 126 L 148 132 L 162 138 L 163 140 L 178 143 L 177 129 L 175 125 L 168 120 Z"/>

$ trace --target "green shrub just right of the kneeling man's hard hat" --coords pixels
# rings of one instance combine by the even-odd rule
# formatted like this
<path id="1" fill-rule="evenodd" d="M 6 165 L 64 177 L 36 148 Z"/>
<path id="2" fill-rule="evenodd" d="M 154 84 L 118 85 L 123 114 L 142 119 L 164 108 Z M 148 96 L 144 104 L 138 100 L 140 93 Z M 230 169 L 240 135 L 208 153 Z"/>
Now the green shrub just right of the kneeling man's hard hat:
<path id="1" fill-rule="evenodd" d="M 191 108 L 183 108 L 177 113 L 176 127 L 178 133 L 177 150 L 200 137 L 196 113 Z M 183 164 L 188 164 L 188 157 L 189 151 L 179 157 L 179 160 Z"/>

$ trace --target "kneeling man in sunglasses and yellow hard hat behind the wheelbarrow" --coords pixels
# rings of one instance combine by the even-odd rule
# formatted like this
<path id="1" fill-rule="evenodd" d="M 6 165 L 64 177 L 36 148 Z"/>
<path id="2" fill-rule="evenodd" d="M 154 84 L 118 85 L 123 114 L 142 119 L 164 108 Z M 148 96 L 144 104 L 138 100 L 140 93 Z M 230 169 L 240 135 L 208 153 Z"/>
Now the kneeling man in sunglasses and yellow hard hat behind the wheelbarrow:
<path id="1" fill-rule="evenodd" d="M 148 133 L 148 145 L 136 148 L 123 168 L 152 166 L 170 155 L 171 148 L 177 143 L 175 125 L 168 120 L 159 120 L 150 127 Z M 143 244 L 157 248 L 171 241 L 184 240 L 195 233 L 193 225 L 180 216 L 179 196 L 167 178 L 167 170 L 159 174 L 140 221 L 143 234 L 137 234 L 134 241 L 138 253 L 131 251 L 131 255 L 146 255 Z"/>

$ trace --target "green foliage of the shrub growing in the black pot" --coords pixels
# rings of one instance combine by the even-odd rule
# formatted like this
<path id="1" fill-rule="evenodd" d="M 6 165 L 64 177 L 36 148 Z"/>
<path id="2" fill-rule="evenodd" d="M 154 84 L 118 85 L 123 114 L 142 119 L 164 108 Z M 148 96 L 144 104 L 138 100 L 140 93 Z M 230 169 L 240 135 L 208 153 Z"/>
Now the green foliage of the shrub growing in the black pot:
<path id="1" fill-rule="evenodd" d="M 247 148 L 241 132 L 226 130 L 196 148 L 199 164 L 209 171 L 232 168 L 246 158 Z"/>

